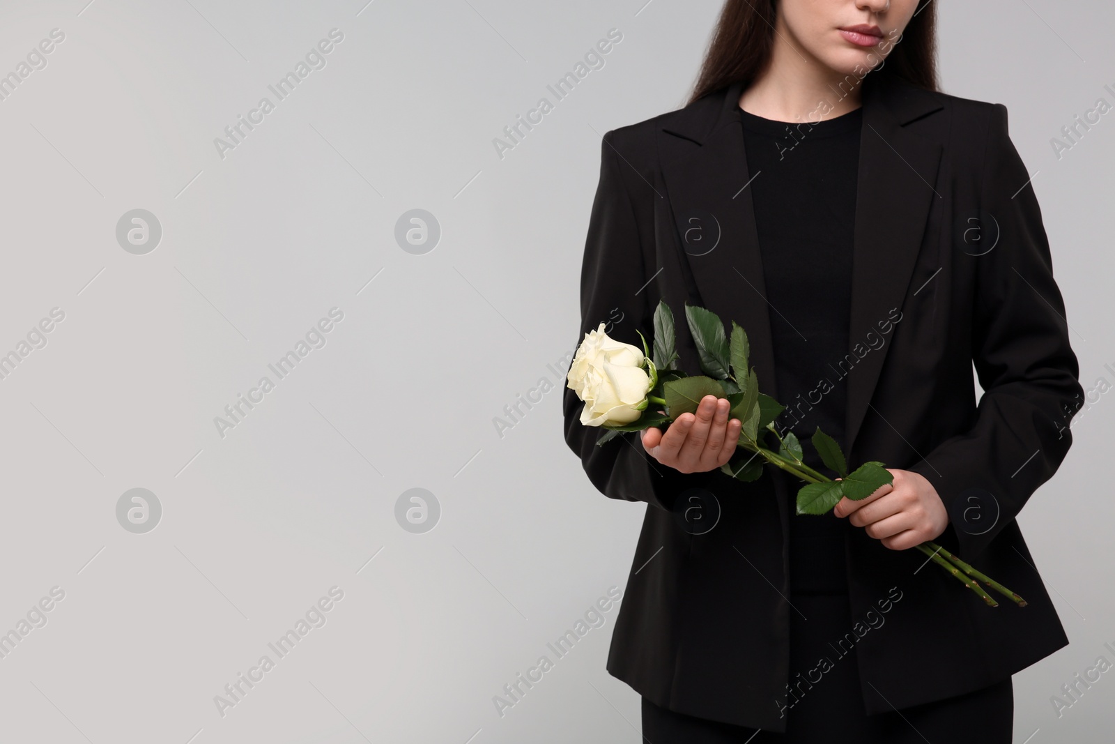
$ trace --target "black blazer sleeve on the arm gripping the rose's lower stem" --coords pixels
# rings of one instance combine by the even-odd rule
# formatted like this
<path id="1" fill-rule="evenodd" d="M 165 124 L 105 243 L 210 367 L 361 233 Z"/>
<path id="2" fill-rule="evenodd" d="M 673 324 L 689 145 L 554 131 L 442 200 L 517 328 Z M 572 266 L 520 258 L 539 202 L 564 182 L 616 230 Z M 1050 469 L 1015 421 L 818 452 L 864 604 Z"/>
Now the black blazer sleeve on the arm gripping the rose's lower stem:
<path id="1" fill-rule="evenodd" d="M 949 508 L 966 560 L 995 540 L 1056 472 L 1072 444 L 1072 413 L 1083 400 L 1065 303 L 1029 181 L 1008 134 L 1007 107 L 995 104 L 981 209 L 998 223 L 999 242 L 972 259 L 978 264 L 971 351 L 983 396 L 971 429 L 946 439 L 910 468 L 928 479 Z M 969 501 L 970 489 L 990 492 L 998 504 L 998 519 L 987 531 L 952 521 L 969 503 L 981 503 Z"/>

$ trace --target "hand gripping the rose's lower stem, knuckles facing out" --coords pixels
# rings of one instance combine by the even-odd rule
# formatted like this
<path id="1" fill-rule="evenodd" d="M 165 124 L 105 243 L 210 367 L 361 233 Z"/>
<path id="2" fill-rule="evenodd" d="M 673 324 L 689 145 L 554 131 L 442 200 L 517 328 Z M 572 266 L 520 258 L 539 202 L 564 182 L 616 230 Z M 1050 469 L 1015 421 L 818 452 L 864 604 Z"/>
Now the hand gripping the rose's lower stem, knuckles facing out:
<path id="1" fill-rule="evenodd" d="M 920 473 L 888 467 L 893 485 L 881 486 L 866 499 L 847 496 L 833 506 L 836 516 L 847 516 L 869 537 L 891 550 L 905 550 L 933 540 L 949 525 L 949 512 L 933 484 Z M 850 516 L 851 515 L 851 516 Z"/>

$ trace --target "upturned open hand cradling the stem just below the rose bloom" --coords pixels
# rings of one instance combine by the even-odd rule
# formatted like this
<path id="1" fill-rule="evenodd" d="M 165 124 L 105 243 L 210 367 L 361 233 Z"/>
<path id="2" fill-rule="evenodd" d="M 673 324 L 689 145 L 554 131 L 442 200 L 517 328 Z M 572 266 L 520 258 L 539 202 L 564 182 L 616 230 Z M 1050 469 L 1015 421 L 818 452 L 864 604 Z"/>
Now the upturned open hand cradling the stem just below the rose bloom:
<path id="1" fill-rule="evenodd" d="M 663 434 L 649 426 L 641 432 L 642 448 L 651 457 L 682 473 L 704 473 L 727 463 L 736 452 L 738 418 L 728 421 L 731 404 L 727 398 L 706 395 L 697 414 L 683 413 Z"/>

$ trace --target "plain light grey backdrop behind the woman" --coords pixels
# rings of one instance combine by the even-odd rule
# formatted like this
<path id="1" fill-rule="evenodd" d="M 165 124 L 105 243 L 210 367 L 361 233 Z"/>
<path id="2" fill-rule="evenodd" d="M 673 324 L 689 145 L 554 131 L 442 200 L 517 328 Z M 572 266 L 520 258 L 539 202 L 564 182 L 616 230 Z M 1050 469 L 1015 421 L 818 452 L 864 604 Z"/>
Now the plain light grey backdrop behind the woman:
<path id="1" fill-rule="evenodd" d="M 0 659 L 0 741 L 638 741 L 639 698 L 604 670 L 614 607 L 505 715 L 493 696 L 624 587 L 644 506 L 566 448 L 555 363 L 579 340 L 600 137 L 682 103 L 719 2 L 87 2 L 0 6 L 0 74 L 65 33 L 0 100 L 0 352 L 65 312 L 0 380 L 0 632 L 65 591 Z M 1113 383 L 1115 113 L 1060 158 L 1050 138 L 1115 103 L 1115 9 L 938 6 L 943 87 L 1008 106 L 1082 381 Z M 222 158 L 214 138 L 333 28 L 326 66 Z M 605 65 L 555 102 L 609 29 Z M 116 240 L 135 209 L 163 231 L 143 255 Z M 395 240 L 414 209 L 442 229 L 420 255 Z M 220 436 L 334 307 L 326 345 Z M 1072 645 L 1015 677 L 1016 742 L 1111 738 L 1115 673 L 1050 703 L 1115 661 L 1115 403 L 1094 399 L 1019 518 Z M 145 533 L 117 522 L 137 487 L 162 506 Z M 396 521 L 416 487 L 440 506 L 421 533 Z M 333 586 L 326 625 L 220 715 Z"/>

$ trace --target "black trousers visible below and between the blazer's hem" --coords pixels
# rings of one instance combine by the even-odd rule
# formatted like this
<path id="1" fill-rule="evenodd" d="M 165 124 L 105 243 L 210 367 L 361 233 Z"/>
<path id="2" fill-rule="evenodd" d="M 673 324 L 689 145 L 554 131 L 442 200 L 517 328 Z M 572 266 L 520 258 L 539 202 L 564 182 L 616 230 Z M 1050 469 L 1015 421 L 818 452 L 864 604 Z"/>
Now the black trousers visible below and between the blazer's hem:
<path id="1" fill-rule="evenodd" d="M 833 646 L 852 628 L 846 595 L 791 595 L 802 615 L 791 612 L 791 678 L 832 665 L 785 708 L 786 733 L 696 718 L 642 698 L 647 744 L 1010 744 L 1015 690 L 1010 677 L 990 687 L 943 700 L 869 716 L 860 695 L 855 647 Z M 879 629 L 881 631 L 885 625 Z M 869 632 L 875 632 L 870 630 Z M 815 678 L 815 674 L 813 675 Z M 884 696 L 885 690 L 880 690 Z M 772 705 L 775 702 L 772 700 Z"/>

